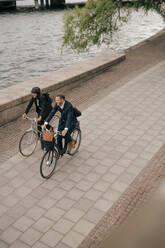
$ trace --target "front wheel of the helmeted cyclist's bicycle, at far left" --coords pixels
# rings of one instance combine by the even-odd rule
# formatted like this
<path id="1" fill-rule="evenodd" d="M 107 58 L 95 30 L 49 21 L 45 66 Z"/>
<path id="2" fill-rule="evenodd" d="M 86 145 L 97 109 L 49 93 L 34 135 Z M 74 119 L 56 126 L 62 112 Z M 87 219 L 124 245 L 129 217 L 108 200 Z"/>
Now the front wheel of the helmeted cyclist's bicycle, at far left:
<path id="1" fill-rule="evenodd" d="M 37 147 L 38 135 L 35 131 L 26 131 L 19 142 L 19 151 L 24 157 L 32 155 Z"/>

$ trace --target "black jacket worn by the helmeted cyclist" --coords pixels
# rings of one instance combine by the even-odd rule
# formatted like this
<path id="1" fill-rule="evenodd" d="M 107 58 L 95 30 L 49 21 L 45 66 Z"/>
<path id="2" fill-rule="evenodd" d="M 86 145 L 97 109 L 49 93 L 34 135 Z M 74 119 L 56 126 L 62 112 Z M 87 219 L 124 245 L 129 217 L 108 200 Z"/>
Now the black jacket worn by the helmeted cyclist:
<path id="1" fill-rule="evenodd" d="M 52 110 L 51 101 L 48 100 L 45 94 L 42 94 L 41 96 L 37 98 L 33 98 L 33 97 L 31 98 L 25 110 L 26 114 L 30 111 L 33 103 L 36 106 L 36 112 L 38 113 L 38 116 L 41 116 L 42 119 L 45 119 Z"/>

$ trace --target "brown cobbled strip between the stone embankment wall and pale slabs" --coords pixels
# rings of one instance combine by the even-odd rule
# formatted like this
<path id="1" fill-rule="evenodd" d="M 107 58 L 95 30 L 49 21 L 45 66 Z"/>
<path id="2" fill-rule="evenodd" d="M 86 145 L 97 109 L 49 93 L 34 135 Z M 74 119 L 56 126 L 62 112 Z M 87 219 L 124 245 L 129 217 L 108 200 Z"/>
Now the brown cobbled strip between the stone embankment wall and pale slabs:
<path id="1" fill-rule="evenodd" d="M 131 48 L 126 52 L 127 59 L 110 68 L 107 72 L 87 82 L 75 85 L 72 89 L 63 88 L 57 93 L 64 93 L 67 99 L 79 106 L 81 110 L 121 87 L 129 80 L 165 59 L 165 32 L 153 40 Z M 23 111 L 23 110 L 22 110 Z M 19 139 L 29 123 L 18 119 L 0 127 L 0 163 L 18 152 Z M 4 142 L 5 141 L 5 142 Z"/>

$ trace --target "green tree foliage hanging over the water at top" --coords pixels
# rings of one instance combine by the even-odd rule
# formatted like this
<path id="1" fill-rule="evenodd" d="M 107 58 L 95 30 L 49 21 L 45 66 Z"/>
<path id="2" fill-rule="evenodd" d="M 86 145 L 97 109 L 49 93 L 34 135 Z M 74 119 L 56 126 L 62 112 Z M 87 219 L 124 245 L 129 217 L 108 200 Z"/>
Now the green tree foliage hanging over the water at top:
<path id="1" fill-rule="evenodd" d="M 163 14 L 165 0 L 135 0 L 131 7 L 154 9 Z M 92 45 L 109 44 L 114 32 L 128 20 L 130 4 L 122 0 L 88 0 L 85 7 L 67 11 L 64 17 L 63 46 L 77 52 Z"/>

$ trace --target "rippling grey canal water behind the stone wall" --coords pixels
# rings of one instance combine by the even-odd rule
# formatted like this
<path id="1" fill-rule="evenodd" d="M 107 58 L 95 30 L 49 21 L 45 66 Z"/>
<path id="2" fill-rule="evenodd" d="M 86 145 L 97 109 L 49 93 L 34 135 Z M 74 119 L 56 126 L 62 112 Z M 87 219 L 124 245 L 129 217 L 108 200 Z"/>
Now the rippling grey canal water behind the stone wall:
<path id="1" fill-rule="evenodd" d="M 163 18 L 157 13 L 150 11 L 145 15 L 143 11 L 133 11 L 129 22 L 115 35 L 109 48 L 92 47 L 89 53 L 78 55 L 65 49 L 61 54 L 62 20 L 66 10 L 22 8 L 27 2 L 33 4 L 30 1 L 19 2 L 21 8 L 16 12 L 0 14 L 0 89 L 58 70 L 101 51 L 123 51 L 165 27 Z"/>

